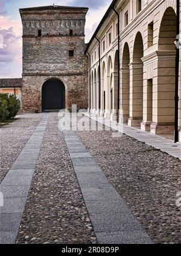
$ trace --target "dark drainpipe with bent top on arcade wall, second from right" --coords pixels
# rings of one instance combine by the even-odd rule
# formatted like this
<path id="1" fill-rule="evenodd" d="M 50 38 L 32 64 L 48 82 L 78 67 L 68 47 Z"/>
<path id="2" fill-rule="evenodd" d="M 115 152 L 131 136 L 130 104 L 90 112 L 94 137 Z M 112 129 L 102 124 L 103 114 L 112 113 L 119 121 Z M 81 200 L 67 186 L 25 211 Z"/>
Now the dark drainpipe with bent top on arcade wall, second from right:
<path id="1" fill-rule="evenodd" d="M 120 102 L 120 95 L 119 95 L 119 90 L 120 90 L 120 18 L 119 18 L 119 13 L 115 10 L 115 7 L 112 8 L 113 11 L 116 13 L 118 16 L 118 123 L 119 123 L 119 102 Z"/>

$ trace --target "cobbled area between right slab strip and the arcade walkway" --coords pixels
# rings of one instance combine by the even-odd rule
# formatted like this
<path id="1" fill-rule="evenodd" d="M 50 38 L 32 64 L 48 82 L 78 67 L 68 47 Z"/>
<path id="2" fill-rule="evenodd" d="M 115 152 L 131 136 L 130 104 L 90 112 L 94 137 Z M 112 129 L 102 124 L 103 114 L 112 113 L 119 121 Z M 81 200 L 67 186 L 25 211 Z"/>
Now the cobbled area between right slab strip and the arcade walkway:
<path id="1" fill-rule="evenodd" d="M 77 133 L 154 243 L 181 243 L 180 161 L 127 135 Z"/>

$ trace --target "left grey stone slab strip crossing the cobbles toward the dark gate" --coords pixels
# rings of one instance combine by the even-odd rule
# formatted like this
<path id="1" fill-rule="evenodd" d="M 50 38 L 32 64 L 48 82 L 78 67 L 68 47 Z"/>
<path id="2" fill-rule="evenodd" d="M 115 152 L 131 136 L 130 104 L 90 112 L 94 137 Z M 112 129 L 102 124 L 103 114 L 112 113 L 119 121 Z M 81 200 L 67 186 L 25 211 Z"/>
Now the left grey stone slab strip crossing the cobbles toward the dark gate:
<path id="1" fill-rule="evenodd" d="M 43 115 L 0 185 L 4 197 L 4 205 L 0 207 L 0 244 L 16 243 L 48 116 L 48 113 Z"/>

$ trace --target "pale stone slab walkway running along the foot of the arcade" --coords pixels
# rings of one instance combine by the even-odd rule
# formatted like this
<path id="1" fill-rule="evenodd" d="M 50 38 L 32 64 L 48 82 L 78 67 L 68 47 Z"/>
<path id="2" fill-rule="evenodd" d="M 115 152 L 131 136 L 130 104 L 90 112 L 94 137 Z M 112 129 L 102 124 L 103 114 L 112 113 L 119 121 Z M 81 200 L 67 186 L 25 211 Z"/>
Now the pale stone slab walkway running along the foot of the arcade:
<path id="1" fill-rule="evenodd" d="M 162 152 L 168 153 L 168 155 L 171 155 L 172 157 L 179 158 L 179 160 L 181 160 L 180 143 L 174 143 L 167 138 L 163 138 L 150 132 L 145 132 L 135 127 L 126 126 L 125 124 L 118 124 L 115 121 L 110 121 L 108 118 L 101 118 L 100 116 L 92 114 L 90 115 L 88 112 L 84 112 L 83 115 L 97 121 L 100 124 L 104 124 L 107 127 L 112 127 L 112 129 L 119 130 L 119 132 L 125 133 L 138 141 L 144 142 L 148 146 L 152 146 Z"/>

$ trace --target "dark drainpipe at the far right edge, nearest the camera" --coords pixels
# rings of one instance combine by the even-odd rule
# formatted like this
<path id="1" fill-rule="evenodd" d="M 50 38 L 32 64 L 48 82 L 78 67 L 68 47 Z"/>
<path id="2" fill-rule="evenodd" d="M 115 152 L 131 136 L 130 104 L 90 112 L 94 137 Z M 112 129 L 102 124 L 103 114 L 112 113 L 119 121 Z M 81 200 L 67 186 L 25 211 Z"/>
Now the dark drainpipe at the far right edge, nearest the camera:
<path id="1" fill-rule="evenodd" d="M 175 88 L 175 135 L 174 143 L 179 141 L 179 33 L 180 33 L 180 0 L 177 0 L 177 25 L 176 25 L 176 88 Z"/>

